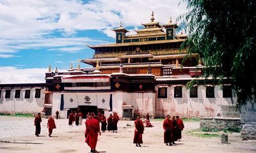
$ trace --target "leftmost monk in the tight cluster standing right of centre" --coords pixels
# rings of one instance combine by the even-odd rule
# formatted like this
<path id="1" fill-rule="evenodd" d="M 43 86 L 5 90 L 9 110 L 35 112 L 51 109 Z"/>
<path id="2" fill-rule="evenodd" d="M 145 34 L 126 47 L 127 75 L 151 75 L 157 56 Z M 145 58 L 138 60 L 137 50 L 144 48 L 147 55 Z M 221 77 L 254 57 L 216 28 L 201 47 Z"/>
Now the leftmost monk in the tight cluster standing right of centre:
<path id="1" fill-rule="evenodd" d="M 166 115 L 166 118 L 163 122 L 163 129 L 164 129 L 164 143 L 166 145 L 172 145 L 173 136 L 172 136 L 172 121 L 170 120 L 170 115 Z"/>

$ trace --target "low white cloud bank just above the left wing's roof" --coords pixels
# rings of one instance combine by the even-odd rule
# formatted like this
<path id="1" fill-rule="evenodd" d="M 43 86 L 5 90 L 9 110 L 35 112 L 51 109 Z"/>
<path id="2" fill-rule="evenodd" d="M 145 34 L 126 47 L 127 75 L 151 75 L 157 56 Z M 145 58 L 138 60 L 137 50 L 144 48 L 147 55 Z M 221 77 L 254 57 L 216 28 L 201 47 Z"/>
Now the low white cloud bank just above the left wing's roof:
<path id="1" fill-rule="evenodd" d="M 0 82 L 1 84 L 43 83 L 47 70 L 47 68 L 19 69 L 13 66 L 2 66 Z M 67 71 L 67 69 L 58 69 L 58 71 Z"/>

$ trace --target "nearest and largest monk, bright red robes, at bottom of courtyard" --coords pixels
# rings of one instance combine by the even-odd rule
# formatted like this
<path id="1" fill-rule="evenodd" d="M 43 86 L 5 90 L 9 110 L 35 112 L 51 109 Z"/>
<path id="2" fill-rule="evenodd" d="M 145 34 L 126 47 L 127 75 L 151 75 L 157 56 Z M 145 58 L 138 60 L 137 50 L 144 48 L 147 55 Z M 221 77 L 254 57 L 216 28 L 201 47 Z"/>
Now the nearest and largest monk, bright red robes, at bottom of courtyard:
<path id="1" fill-rule="evenodd" d="M 92 115 L 88 115 L 88 119 L 85 122 L 86 131 L 84 133 L 85 142 L 91 148 L 91 152 L 97 152 L 96 145 L 98 140 L 98 133 L 100 133 L 100 122 L 99 120 L 92 117 Z"/>

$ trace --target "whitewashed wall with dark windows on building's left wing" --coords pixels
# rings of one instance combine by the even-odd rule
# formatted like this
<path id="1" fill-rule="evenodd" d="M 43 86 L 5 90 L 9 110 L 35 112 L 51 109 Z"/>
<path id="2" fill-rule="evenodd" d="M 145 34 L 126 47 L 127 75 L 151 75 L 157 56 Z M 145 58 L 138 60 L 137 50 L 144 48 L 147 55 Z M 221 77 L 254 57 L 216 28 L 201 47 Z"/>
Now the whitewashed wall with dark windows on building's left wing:
<path id="1" fill-rule="evenodd" d="M 37 88 L 38 89 L 38 88 Z M 12 89 L 10 98 L 5 97 L 5 89 L 1 91 L 0 112 L 2 113 L 38 113 L 44 109 L 44 89 L 40 91 L 40 98 L 35 98 L 35 88 L 30 89 L 30 98 L 24 98 L 26 89 L 20 89 L 20 98 L 14 98 Z"/>

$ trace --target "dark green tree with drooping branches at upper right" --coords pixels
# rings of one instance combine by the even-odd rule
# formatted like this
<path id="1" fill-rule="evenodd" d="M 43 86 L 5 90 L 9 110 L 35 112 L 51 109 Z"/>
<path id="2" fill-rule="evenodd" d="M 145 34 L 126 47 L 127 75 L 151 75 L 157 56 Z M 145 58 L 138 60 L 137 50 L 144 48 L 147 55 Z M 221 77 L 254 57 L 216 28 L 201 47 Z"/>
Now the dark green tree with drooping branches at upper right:
<path id="1" fill-rule="evenodd" d="M 204 77 L 230 80 L 239 108 L 256 103 L 256 1 L 182 1 L 189 9 L 179 17 L 188 33 L 182 47 L 203 57 Z"/>

